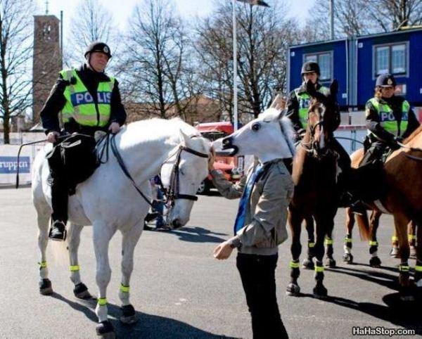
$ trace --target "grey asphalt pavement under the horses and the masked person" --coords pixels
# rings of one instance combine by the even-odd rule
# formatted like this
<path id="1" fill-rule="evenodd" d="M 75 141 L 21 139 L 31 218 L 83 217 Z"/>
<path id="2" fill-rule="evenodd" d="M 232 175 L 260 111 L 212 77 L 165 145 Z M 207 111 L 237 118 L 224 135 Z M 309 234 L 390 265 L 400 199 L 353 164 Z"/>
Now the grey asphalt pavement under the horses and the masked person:
<path id="1" fill-rule="evenodd" d="M 117 338 L 252 338 L 236 255 L 226 261 L 212 257 L 215 246 L 231 236 L 237 204 L 238 200 L 216 194 L 200 196 L 183 229 L 144 231 L 135 250 L 131 281 L 131 300 L 139 316 L 134 326 L 117 320 L 121 236 L 115 235 L 110 243 L 113 273 L 108 302 Z M 95 301 L 73 296 L 68 261 L 54 259 L 51 245 L 48 264 L 54 293 L 39 295 L 37 226 L 30 188 L 1 188 L 0 211 L 0 338 L 96 338 Z M 356 264 L 343 264 L 345 214 L 339 210 L 334 231 L 338 267 L 326 269 L 326 300 L 312 297 L 314 272 L 307 270 L 301 270 L 302 295 L 286 295 L 290 239 L 281 245 L 277 293 L 290 338 L 352 338 L 353 327 L 364 326 L 414 329 L 421 336 L 421 304 L 398 300 L 398 260 L 388 254 L 390 216 L 381 217 L 378 234 L 381 268 L 369 267 L 369 246 L 359 241 L 358 231 L 352 250 Z M 304 230 L 303 243 L 305 239 Z M 95 295 L 91 227 L 82 231 L 79 264 L 82 281 Z M 410 264 L 413 267 L 414 260 Z"/>

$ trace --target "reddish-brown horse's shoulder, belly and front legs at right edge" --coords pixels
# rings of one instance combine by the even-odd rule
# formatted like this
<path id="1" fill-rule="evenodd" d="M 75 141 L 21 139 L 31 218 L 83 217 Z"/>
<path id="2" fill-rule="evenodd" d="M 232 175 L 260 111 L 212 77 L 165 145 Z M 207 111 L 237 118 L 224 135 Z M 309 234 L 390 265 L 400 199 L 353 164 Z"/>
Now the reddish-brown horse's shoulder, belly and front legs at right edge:
<path id="1" fill-rule="evenodd" d="M 422 239 L 422 126 L 405 141 L 404 147 L 392 153 L 384 165 L 385 194 L 376 203 L 369 203 L 373 210 L 389 213 L 394 218 L 399 242 L 399 285 L 402 300 L 414 300 L 413 283 L 409 279 L 409 241 L 407 226 L 411 220 L 417 225 L 416 238 Z M 359 223 L 358 223 L 359 224 Z M 361 226 L 359 224 L 359 226 Z M 362 229 L 369 235 L 369 228 Z M 416 244 L 414 281 L 418 294 L 422 293 L 422 241 Z"/>

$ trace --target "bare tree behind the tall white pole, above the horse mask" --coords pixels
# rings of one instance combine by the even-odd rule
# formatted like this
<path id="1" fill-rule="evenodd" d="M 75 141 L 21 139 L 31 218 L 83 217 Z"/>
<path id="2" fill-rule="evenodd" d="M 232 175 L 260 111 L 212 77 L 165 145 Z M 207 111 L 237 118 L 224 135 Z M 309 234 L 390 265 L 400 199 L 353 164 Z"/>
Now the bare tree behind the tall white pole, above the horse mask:
<path id="1" fill-rule="evenodd" d="M 206 92 L 217 98 L 231 116 L 233 98 L 233 34 L 231 3 L 219 3 L 210 18 L 198 25 L 198 55 L 203 63 Z M 286 51 L 298 41 L 297 24 L 286 20 L 286 6 L 275 1 L 271 10 L 236 5 L 238 41 L 239 112 L 243 120 L 267 108 L 274 90 L 286 82 Z"/>

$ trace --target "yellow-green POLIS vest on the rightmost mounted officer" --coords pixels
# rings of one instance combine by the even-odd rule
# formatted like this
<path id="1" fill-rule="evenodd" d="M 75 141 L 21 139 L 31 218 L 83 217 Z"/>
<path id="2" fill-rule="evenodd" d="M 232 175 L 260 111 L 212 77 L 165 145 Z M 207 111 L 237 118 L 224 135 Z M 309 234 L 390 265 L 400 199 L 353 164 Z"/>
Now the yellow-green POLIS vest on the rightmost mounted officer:
<path id="1" fill-rule="evenodd" d="M 380 103 L 378 98 L 371 98 L 369 100 L 373 108 L 376 109 L 380 117 L 380 124 L 385 131 L 394 134 L 395 136 L 402 136 L 407 129 L 407 120 L 409 118 L 409 103 L 404 100 L 402 103 L 402 121 L 398 124 L 390 105 L 387 103 Z"/>

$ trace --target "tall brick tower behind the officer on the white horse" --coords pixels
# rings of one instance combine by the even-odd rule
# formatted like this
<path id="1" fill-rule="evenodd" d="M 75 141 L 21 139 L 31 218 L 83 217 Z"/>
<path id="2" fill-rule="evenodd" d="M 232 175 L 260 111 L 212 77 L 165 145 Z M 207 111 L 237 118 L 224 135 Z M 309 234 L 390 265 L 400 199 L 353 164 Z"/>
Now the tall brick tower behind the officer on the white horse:
<path id="1" fill-rule="evenodd" d="M 54 15 L 34 15 L 34 59 L 32 68 L 32 120 L 39 112 L 62 68 L 60 20 Z"/>

